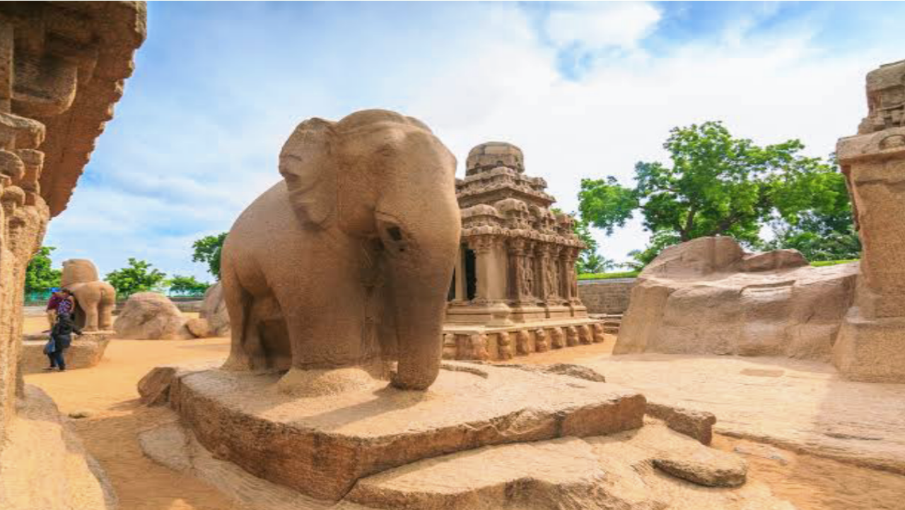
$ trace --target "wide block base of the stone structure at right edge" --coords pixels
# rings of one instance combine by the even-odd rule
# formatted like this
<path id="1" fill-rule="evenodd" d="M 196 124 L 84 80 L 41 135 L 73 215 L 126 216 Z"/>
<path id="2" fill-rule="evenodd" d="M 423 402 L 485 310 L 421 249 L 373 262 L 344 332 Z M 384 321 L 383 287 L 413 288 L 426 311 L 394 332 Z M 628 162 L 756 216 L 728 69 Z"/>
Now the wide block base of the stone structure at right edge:
<path id="1" fill-rule="evenodd" d="M 905 382 L 905 317 L 865 319 L 853 308 L 833 345 L 833 364 L 846 379 Z"/>

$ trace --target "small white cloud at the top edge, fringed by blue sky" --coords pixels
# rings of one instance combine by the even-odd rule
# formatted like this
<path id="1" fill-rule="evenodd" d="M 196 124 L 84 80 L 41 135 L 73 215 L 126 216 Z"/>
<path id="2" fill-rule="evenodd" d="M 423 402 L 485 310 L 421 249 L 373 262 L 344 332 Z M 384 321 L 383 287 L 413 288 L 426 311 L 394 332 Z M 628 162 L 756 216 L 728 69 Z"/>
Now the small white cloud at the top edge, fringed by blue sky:
<path id="1" fill-rule="evenodd" d="M 634 48 L 653 32 L 660 11 L 646 2 L 569 2 L 553 4 L 546 28 L 559 47 Z"/>

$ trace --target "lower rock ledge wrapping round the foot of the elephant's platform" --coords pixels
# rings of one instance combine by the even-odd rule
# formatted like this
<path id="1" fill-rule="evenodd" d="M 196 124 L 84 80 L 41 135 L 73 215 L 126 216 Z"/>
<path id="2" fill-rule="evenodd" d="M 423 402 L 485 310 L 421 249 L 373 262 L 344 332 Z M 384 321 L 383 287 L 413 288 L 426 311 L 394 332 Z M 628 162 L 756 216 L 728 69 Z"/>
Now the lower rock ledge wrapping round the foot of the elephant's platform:
<path id="1" fill-rule="evenodd" d="M 138 441 L 148 457 L 205 480 L 249 510 L 795 510 L 767 486 L 746 483 L 738 456 L 704 447 L 659 420 L 604 437 L 424 459 L 361 478 L 336 502 L 253 477 L 217 458 L 178 422 L 145 431 Z"/>

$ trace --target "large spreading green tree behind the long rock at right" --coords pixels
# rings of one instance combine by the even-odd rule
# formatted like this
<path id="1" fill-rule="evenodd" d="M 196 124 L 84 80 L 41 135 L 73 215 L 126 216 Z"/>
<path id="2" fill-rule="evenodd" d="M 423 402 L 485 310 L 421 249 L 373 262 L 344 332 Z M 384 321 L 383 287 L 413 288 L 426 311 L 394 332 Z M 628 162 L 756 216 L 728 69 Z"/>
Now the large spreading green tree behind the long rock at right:
<path id="1" fill-rule="evenodd" d="M 757 146 L 719 122 L 705 122 L 672 129 L 663 148 L 672 165 L 639 162 L 634 187 L 613 176 L 583 179 L 578 194 L 582 218 L 607 233 L 640 211 L 652 232 L 647 249 L 632 254 L 641 266 L 670 244 L 702 236 L 761 246 L 759 232 L 771 221 L 807 229 L 809 214 L 848 207 L 848 195 L 834 187 L 832 165 L 801 156 L 798 140 Z"/>

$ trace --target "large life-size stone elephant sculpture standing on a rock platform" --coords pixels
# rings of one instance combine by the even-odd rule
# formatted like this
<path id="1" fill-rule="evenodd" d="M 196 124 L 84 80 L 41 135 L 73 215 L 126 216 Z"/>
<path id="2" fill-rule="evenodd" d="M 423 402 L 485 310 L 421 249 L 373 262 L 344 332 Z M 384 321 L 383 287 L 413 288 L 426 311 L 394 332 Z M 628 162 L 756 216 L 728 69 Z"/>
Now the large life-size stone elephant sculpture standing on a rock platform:
<path id="1" fill-rule="evenodd" d="M 428 127 L 391 111 L 296 127 L 283 180 L 224 243 L 224 368 L 288 370 L 278 387 L 297 395 L 430 386 L 460 239 L 455 165 Z"/>

